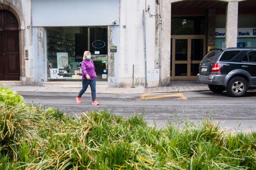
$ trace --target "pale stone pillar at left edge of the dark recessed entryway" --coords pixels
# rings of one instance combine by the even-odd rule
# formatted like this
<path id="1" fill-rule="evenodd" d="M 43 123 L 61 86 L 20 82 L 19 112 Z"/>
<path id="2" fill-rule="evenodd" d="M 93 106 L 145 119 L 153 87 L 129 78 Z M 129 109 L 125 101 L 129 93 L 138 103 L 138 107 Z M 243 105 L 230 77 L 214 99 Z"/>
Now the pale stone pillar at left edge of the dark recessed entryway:
<path id="1" fill-rule="evenodd" d="M 171 2 L 161 1 L 161 85 L 170 84 L 170 59 L 171 59 Z"/>

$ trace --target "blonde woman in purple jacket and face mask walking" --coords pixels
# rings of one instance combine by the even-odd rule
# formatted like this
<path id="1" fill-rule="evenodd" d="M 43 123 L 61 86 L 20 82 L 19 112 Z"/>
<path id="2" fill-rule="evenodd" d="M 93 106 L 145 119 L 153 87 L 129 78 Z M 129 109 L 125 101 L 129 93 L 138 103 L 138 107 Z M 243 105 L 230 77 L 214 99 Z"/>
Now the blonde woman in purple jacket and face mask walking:
<path id="1" fill-rule="evenodd" d="M 80 90 L 78 97 L 76 98 L 77 103 L 81 102 L 81 97 L 83 93 L 86 91 L 88 85 L 91 87 L 92 93 L 92 104 L 98 105 L 99 102 L 96 100 L 96 72 L 94 63 L 91 60 L 91 52 L 84 51 L 83 53 L 83 61 L 82 61 L 82 89 Z"/>

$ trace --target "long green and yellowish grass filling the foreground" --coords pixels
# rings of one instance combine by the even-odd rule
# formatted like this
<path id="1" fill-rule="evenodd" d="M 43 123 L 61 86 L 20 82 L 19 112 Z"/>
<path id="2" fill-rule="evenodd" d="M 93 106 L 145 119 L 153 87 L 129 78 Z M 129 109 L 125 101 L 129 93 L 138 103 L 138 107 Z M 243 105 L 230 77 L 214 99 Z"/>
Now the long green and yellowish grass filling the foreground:
<path id="1" fill-rule="evenodd" d="M 0 170 L 256 169 L 255 132 L 226 133 L 209 120 L 158 129 L 105 110 L 76 120 L 22 100 L 0 102 Z"/>

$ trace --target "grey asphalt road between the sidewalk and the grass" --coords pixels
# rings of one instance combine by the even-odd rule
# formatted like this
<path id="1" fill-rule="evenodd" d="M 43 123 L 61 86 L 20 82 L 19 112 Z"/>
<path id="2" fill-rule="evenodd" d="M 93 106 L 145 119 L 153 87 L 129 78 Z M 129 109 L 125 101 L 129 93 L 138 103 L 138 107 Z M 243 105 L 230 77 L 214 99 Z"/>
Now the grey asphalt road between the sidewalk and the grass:
<path id="1" fill-rule="evenodd" d="M 91 104 L 90 94 L 82 96 L 76 103 L 74 93 L 20 93 L 27 103 L 42 104 L 59 108 L 70 116 L 81 112 L 106 109 L 113 114 L 131 116 L 144 114 L 150 125 L 165 126 L 167 121 L 180 124 L 184 120 L 198 122 L 201 119 L 217 120 L 226 129 L 256 130 L 256 92 L 248 92 L 245 97 L 228 97 L 225 92 L 186 92 L 160 94 L 97 94 L 100 105 Z"/>

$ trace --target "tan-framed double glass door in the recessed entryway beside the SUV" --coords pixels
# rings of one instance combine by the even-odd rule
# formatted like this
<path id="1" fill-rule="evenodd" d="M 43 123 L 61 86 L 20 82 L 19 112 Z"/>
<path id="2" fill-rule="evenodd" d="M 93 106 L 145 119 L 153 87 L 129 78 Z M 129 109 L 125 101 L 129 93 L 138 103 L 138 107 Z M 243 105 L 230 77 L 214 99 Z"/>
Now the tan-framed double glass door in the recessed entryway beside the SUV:
<path id="1" fill-rule="evenodd" d="M 204 35 L 172 35 L 172 79 L 196 79 L 205 55 Z"/>

